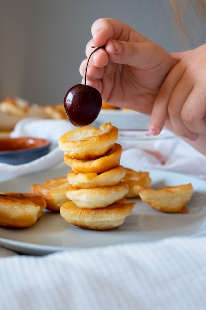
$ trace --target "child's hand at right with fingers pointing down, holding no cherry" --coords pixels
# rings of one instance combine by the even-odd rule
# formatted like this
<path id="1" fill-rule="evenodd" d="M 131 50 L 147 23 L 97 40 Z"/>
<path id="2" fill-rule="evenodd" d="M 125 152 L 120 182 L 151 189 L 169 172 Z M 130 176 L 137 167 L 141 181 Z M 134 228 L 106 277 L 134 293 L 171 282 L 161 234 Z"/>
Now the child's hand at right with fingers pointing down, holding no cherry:
<path id="1" fill-rule="evenodd" d="M 206 134 L 206 44 L 173 57 L 178 63 L 155 100 L 150 129 L 158 134 L 169 116 L 177 134 L 196 140 Z"/>

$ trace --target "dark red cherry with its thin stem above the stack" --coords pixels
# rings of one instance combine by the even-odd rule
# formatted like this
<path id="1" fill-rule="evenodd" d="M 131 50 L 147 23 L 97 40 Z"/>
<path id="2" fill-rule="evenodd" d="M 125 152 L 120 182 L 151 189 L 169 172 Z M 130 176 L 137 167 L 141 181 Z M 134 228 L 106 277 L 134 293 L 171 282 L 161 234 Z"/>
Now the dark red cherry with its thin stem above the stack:
<path id="1" fill-rule="evenodd" d="M 100 47 L 97 47 L 91 55 Z M 104 48 L 104 47 L 103 47 Z M 88 62 L 86 65 L 86 73 Z M 102 107 L 100 92 L 89 85 L 77 84 L 71 87 L 64 97 L 64 108 L 70 122 L 75 126 L 86 126 L 91 124 L 99 115 Z"/>

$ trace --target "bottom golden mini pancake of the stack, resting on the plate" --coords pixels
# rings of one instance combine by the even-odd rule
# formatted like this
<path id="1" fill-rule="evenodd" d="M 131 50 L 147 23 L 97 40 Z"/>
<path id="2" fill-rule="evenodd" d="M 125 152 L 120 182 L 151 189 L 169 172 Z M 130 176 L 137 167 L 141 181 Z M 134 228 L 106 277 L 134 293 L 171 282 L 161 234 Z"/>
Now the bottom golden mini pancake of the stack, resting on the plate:
<path id="1" fill-rule="evenodd" d="M 80 209 L 74 202 L 64 203 L 60 215 L 69 223 L 86 229 L 108 230 L 119 227 L 132 213 L 134 203 L 126 203 L 126 199 L 105 208 Z"/>

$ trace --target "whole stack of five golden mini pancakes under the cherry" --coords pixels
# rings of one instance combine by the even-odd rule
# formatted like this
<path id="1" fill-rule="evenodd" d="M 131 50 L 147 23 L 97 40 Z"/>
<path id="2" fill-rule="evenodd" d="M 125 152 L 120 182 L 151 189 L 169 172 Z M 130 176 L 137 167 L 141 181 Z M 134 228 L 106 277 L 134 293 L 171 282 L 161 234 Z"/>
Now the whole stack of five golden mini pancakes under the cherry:
<path id="1" fill-rule="evenodd" d="M 69 199 L 60 207 L 61 216 L 69 223 L 87 229 L 107 230 L 123 224 L 132 213 L 134 203 L 124 197 L 128 185 L 120 166 L 121 145 L 118 129 L 110 122 L 69 131 L 59 138 L 64 162 L 72 171 L 67 174 Z"/>

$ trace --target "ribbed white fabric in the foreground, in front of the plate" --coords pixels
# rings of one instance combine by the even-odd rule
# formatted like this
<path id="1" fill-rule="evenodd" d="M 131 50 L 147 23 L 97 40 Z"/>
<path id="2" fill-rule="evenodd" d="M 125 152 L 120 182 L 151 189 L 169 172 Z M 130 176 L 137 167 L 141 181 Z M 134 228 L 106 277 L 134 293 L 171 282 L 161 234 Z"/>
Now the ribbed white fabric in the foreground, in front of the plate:
<path id="1" fill-rule="evenodd" d="M 2 310 L 205 310 L 206 238 L 0 258 Z"/>

